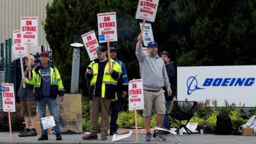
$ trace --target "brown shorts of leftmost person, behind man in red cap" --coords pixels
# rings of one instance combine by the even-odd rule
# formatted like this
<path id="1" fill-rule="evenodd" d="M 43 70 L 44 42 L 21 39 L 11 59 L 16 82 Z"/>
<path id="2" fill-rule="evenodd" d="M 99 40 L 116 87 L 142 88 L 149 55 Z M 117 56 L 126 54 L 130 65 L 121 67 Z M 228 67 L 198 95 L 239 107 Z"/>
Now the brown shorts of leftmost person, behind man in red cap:
<path id="1" fill-rule="evenodd" d="M 36 106 L 37 102 L 35 100 L 21 100 L 20 101 L 21 110 L 20 114 L 22 116 L 36 116 Z"/>

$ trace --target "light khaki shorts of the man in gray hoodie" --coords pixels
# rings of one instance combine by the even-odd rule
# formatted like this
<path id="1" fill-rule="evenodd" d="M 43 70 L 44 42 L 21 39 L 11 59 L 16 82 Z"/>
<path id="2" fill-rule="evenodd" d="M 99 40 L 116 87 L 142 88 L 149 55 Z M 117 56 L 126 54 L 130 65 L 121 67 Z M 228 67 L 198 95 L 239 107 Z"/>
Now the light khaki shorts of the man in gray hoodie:
<path id="1" fill-rule="evenodd" d="M 165 115 L 165 98 L 162 90 L 157 92 L 144 90 L 143 116 L 151 116 L 153 108 L 157 114 Z"/>

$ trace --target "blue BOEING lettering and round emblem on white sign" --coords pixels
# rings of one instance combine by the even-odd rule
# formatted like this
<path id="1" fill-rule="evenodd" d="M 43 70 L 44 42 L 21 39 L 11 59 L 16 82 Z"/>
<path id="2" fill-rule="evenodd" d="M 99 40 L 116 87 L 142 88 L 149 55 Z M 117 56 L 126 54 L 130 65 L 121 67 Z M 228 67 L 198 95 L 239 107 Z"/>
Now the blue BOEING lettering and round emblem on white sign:
<path id="1" fill-rule="evenodd" d="M 202 90 L 206 89 L 207 87 L 228 87 L 228 86 L 252 86 L 255 82 L 254 77 L 219 77 L 219 78 L 212 78 L 207 77 L 205 78 L 202 85 L 198 84 L 196 76 L 190 76 L 187 79 L 187 94 L 190 95 L 195 90 Z M 199 85 L 199 86 L 198 86 Z"/>

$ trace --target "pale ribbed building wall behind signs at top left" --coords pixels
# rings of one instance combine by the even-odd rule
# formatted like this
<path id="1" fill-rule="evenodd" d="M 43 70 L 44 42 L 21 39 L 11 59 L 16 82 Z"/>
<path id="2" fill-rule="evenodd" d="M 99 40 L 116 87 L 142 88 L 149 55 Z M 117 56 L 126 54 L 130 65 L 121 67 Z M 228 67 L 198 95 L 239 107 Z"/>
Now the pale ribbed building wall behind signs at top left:
<path id="1" fill-rule="evenodd" d="M 52 0 L 0 0 L 0 43 L 12 38 L 12 30 L 20 29 L 20 17 L 38 17 L 38 45 L 47 46 L 42 22 L 48 2 Z"/>

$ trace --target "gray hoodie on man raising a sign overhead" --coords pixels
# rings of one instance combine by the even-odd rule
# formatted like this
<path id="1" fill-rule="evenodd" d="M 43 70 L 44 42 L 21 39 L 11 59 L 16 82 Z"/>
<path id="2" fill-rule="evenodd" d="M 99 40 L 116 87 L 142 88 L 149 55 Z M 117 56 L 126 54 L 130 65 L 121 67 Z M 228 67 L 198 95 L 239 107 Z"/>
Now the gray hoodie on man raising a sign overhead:
<path id="1" fill-rule="evenodd" d="M 140 77 L 143 79 L 143 89 L 151 91 L 170 88 L 169 78 L 166 73 L 164 61 L 157 55 L 146 54 L 142 51 L 142 45 L 135 52 L 140 65 Z"/>

